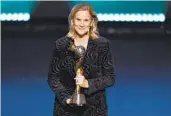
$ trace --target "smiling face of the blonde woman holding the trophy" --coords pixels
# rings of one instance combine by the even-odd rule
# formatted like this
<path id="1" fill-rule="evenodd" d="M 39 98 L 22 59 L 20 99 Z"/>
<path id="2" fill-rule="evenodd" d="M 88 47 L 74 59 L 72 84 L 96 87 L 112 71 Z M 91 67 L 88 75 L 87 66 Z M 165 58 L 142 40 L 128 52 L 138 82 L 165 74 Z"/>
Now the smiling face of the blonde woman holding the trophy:
<path id="1" fill-rule="evenodd" d="M 87 35 L 91 25 L 91 15 L 87 10 L 78 11 L 73 19 L 74 29 L 78 36 Z"/>

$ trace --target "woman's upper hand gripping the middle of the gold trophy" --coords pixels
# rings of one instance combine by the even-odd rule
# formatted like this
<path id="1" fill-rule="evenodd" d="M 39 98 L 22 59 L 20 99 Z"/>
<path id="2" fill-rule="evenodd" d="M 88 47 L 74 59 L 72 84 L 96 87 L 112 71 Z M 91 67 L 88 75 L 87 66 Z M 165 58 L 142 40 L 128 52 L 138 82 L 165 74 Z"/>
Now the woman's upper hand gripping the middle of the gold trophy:
<path id="1" fill-rule="evenodd" d="M 78 75 L 76 76 L 76 78 L 74 78 L 76 81 L 76 84 L 79 85 L 80 87 L 83 88 L 88 88 L 88 80 L 85 79 L 85 77 L 83 75 Z"/>

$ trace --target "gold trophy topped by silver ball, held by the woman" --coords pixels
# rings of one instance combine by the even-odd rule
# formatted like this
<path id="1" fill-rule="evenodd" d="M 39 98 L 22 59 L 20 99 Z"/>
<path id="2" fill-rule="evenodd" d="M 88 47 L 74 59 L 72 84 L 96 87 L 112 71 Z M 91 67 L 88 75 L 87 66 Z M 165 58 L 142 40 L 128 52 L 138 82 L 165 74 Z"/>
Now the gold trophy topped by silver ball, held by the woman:
<path id="1" fill-rule="evenodd" d="M 75 52 L 75 54 L 78 57 L 78 60 L 76 61 L 76 76 L 83 74 L 83 59 L 85 54 L 85 48 L 83 46 L 75 46 L 74 44 L 71 47 L 72 51 Z M 81 93 L 81 87 L 79 85 L 76 85 L 75 93 L 72 95 L 71 98 L 71 104 L 73 106 L 83 106 L 86 104 L 85 95 Z"/>

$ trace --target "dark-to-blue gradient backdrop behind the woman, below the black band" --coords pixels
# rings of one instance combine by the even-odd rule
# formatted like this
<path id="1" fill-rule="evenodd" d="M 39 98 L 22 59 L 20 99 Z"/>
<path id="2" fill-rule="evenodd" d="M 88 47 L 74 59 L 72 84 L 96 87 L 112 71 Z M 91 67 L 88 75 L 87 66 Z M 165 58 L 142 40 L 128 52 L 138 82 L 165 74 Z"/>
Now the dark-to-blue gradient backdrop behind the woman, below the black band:
<path id="1" fill-rule="evenodd" d="M 52 116 L 47 84 L 54 38 L 2 39 L 2 116 Z M 171 116 L 170 37 L 111 37 L 116 83 L 109 116 Z"/>

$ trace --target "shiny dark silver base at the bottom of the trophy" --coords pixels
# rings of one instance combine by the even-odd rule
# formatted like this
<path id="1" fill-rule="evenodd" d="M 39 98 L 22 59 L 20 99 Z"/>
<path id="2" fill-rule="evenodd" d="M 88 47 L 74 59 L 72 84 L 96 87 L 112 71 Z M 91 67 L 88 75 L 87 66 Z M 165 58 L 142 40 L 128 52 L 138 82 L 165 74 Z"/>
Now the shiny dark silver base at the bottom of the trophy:
<path id="1" fill-rule="evenodd" d="M 74 93 L 72 96 L 72 106 L 83 106 L 86 104 L 86 99 L 84 94 Z"/>

